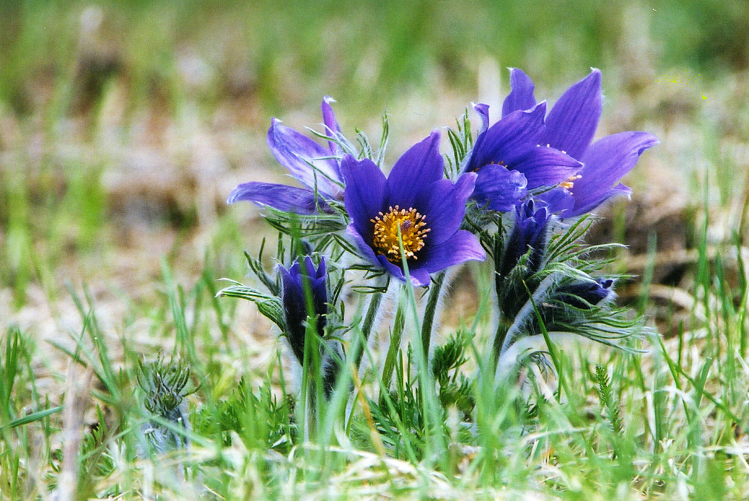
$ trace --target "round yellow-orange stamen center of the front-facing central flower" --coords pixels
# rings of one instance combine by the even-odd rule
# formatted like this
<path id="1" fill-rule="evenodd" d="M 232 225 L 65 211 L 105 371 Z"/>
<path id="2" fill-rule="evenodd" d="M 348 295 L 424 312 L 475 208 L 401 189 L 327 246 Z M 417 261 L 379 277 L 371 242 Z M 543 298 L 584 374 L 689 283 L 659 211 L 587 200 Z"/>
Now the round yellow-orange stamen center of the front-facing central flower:
<path id="1" fill-rule="evenodd" d="M 424 239 L 431 228 L 425 228 L 425 216 L 409 207 L 401 209 L 398 206 L 389 207 L 386 214 L 380 212 L 375 219 L 374 245 L 384 254 L 389 262 L 401 262 L 401 246 L 398 243 L 398 228 L 401 230 L 403 251 L 406 258 L 417 259 L 415 253 L 424 247 Z"/>

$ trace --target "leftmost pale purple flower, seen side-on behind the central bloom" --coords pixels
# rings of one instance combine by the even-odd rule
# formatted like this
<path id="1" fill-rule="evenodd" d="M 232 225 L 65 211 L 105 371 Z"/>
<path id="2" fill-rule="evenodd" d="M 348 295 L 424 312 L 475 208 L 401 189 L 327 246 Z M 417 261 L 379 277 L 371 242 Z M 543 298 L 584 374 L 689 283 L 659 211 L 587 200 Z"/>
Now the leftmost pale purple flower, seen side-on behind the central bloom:
<path id="1" fill-rule="evenodd" d="M 325 96 L 321 105 L 323 121 L 330 137 L 340 135 L 340 127 Z M 321 146 L 306 135 L 281 124 L 272 118 L 267 137 L 268 147 L 281 165 L 291 173 L 291 177 L 305 185 L 305 188 L 279 185 L 272 182 L 245 182 L 231 191 L 226 203 L 247 200 L 259 206 L 270 206 L 297 214 L 315 214 L 325 210 L 325 200 L 341 200 L 343 179 L 339 168 L 341 151 L 334 141 L 328 147 Z"/>

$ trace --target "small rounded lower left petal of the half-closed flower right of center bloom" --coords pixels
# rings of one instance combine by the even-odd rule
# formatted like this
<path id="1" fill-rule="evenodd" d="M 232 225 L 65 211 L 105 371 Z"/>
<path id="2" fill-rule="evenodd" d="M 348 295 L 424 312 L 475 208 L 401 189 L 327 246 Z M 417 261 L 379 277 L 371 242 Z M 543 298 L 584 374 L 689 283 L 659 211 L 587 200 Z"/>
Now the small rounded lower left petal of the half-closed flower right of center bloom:
<path id="1" fill-rule="evenodd" d="M 479 169 L 471 198 L 479 206 L 507 212 L 526 197 L 527 183 L 525 176 L 517 170 L 507 170 L 502 165 L 487 165 Z"/>

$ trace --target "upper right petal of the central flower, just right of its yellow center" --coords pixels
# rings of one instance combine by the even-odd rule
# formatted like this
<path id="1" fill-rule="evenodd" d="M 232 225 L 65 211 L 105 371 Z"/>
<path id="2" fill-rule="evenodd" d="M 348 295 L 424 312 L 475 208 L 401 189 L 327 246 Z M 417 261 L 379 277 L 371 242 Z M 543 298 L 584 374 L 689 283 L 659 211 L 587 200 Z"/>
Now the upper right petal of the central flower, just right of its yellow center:
<path id="1" fill-rule="evenodd" d="M 467 172 L 454 185 L 449 179 L 440 179 L 416 196 L 414 206 L 425 216 L 430 229 L 426 236 L 428 245 L 441 244 L 461 227 L 466 200 L 473 193 L 475 184 L 476 173 Z"/>

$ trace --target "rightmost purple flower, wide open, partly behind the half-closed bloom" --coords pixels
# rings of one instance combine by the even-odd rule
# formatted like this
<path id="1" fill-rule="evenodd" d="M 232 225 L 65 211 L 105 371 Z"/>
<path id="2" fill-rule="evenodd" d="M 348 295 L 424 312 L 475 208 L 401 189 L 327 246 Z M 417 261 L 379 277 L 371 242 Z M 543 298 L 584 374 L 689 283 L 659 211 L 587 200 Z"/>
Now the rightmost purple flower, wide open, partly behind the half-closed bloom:
<path id="1" fill-rule="evenodd" d="M 525 73 L 517 68 L 510 70 L 510 84 L 512 92 L 503 103 L 503 120 L 536 106 L 533 82 Z M 569 87 L 551 108 L 545 131 L 539 138 L 540 144 L 562 150 L 583 162 L 583 168 L 575 176 L 560 179 L 557 188 L 538 197 L 548 203 L 551 212 L 564 211 L 565 218 L 574 217 L 590 212 L 610 197 L 629 196 L 629 188 L 614 183 L 634 167 L 643 151 L 659 142 L 648 132 L 629 131 L 592 143 L 600 117 L 601 71 L 593 69 Z"/>

